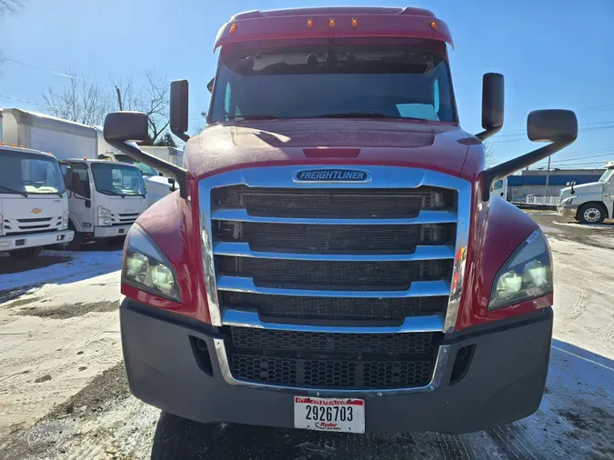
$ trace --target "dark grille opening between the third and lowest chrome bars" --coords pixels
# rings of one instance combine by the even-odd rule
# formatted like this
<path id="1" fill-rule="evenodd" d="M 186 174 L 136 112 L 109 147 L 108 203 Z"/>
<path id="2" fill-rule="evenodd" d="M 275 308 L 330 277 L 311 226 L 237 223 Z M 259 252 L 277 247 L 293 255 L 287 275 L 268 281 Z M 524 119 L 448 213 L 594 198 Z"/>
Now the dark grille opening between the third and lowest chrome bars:
<path id="1" fill-rule="evenodd" d="M 288 319 L 322 319 L 395 322 L 408 316 L 435 315 L 446 311 L 448 297 L 362 298 L 258 295 L 220 291 L 224 307 L 256 308 L 260 315 Z"/>

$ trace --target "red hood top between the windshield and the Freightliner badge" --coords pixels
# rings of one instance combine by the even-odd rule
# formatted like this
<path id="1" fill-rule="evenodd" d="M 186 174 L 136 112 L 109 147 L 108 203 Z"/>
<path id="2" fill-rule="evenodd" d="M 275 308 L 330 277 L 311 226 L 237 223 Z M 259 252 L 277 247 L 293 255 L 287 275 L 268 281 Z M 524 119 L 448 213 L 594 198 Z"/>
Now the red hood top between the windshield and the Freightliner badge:
<path id="1" fill-rule="evenodd" d="M 267 120 L 210 125 L 187 142 L 184 155 L 196 178 L 290 164 L 403 165 L 458 176 L 475 141 L 456 125 L 428 121 Z"/>

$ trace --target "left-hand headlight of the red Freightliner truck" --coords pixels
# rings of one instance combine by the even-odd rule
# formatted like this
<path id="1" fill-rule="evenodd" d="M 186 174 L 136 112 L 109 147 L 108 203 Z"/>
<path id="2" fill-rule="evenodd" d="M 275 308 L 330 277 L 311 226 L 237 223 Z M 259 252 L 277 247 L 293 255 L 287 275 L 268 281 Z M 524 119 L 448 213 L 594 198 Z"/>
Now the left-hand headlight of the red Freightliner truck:
<path id="1" fill-rule="evenodd" d="M 122 280 L 151 294 L 181 302 L 175 270 L 137 225 L 132 225 L 127 236 Z"/>

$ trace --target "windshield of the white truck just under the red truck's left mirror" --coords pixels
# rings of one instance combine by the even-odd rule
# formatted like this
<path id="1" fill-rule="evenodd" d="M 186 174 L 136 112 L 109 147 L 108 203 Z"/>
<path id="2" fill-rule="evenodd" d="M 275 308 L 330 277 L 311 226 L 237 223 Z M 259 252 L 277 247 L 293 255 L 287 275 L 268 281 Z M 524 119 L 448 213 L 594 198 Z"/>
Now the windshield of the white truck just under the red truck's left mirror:
<path id="1" fill-rule="evenodd" d="M 145 195 L 141 171 L 116 162 L 93 163 L 96 191 L 105 195 Z"/>

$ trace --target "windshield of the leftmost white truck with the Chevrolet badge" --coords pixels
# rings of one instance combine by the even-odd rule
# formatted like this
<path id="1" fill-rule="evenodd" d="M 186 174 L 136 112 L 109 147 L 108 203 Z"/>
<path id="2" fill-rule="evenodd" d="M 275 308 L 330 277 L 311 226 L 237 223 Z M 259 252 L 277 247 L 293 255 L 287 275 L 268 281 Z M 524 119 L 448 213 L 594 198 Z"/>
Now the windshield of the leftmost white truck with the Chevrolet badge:
<path id="1" fill-rule="evenodd" d="M 55 158 L 0 149 L 0 193 L 62 195 L 64 178 Z"/>

